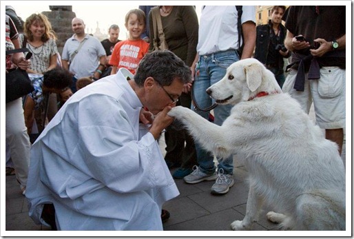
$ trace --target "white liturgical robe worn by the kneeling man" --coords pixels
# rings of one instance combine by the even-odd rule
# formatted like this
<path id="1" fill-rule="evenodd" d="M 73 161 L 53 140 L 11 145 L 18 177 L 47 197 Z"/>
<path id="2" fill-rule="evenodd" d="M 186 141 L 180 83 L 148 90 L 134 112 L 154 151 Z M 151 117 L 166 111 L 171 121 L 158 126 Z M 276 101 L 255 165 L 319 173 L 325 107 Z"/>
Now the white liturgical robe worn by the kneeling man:
<path id="1" fill-rule="evenodd" d="M 44 203 L 59 230 L 162 230 L 163 202 L 179 192 L 143 105 L 121 72 L 76 92 L 32 145 L 26 189 L 37 224 Z"/>

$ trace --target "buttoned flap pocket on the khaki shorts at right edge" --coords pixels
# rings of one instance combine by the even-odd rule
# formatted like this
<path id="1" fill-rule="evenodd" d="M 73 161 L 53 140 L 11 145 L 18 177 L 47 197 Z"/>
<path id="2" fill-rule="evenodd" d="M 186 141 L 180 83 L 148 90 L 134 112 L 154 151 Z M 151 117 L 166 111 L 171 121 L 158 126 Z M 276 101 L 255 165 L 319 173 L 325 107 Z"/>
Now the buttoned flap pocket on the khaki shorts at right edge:
<path id="1" fill-rule="evenodd" d="M 318 81 L 318 94 L 322 98 L 335 98 L 344 89 L 345 71 L 338 67 L 324 67 Z"/>

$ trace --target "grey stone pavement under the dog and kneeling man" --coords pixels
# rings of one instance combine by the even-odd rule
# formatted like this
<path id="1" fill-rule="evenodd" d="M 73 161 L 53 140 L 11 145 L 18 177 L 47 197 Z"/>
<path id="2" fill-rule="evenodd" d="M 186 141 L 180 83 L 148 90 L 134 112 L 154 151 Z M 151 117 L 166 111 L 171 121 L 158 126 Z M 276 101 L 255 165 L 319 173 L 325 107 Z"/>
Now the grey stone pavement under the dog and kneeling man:
<path id="1" fill-rule="evenodd" d="M 160 148 L 164 151 L 163 138 L 160 140 Z M 344 141 L 342 154 L 344 165 L 345 148 Z M 244 218 L 249 191 L 246 181 L 247 169 L 240 165 L 237 159 L 234 160 L 233 178 L 235 185 L 231 187 L 229 193 L 221 196 L 210 194 L 210 188 L 214 181 L 189 185 L 184 183 L 182 179 L 176 180 L 180 195 L 169 200 L 163 206 L 171 214 L 171 218 L 164 224 L 165 231 L 230 231 L 230 224 L 233 220 L 242 220 Z M 3 195 L 1 198 L 3 198 Z M 267 209 L 262 211 L 260 220 L 253 228 L 254 231 L 277 229 L 275 224 L 267 221 L 265 216 L 267 211 Z M 6 176 L 6 231 L 48 230 L 50 228 L 35 225 L 32 222 L 28 216 L 27 202 L 25 197 L 21 195 L 15 176 Z M 16 235 L 15 232 L 12 233 Z M 188 235 L 190 236 L 191 234 Z M 204 233 L 197 235 L 211 236 L 213 234 Z M 214 234 L 214 236 L 218 235 L 222 236 L 222 233 Z M 234 236 L 237 235 L 240 236 L 240 233 L 235 233 Z"/>

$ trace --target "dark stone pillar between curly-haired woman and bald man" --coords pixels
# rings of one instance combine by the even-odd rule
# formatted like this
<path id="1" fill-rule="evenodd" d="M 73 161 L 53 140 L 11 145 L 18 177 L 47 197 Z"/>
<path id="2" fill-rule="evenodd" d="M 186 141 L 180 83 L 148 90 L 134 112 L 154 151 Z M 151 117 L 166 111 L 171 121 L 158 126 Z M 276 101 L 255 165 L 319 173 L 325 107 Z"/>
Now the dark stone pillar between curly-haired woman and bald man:
<path id="1" fill-rule="evenodd" d="M 59 53 L 63 52 L 64 44 L 67 39 L 72 37 L 72 19 L 76 17 L 75 12 L 72 12 L 72 6 L 50 6 L 48 12 L 42 12 L 48 17 L 52 24 L 56 37 L 56 47 Z"/>

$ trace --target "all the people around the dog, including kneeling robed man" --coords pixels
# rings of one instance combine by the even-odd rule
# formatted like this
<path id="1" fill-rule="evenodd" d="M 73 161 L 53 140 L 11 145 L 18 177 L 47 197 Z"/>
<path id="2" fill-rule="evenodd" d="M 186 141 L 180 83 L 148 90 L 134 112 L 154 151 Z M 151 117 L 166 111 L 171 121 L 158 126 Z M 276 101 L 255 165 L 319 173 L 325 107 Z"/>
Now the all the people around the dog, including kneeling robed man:
<path id="1" fill-rule="evenodd" d="M 168 50 L 154 49 L 160 32 L 152 10 Z M 169 218 L 163 203 L 179 194 L 174 179 L 214 180 L 211 193 L 227 194 L 233 157 L 216 163 L 167 112 L 182 105 L 222 125 L 231 105 L 211 110 L 206 89 L 241 59 L 262 62 L 307 113 L 313 103 L 317 125 L 342 152 L 345 6 L 273 6 L 264 25 L 256 25 L 255 6 L 203 6 L 199 21 L 195 6 L 139 6 L 125 16 L 123 41 L 118 25 L 100 42 L 75 17 L 61 54 L 45 14 L 21 21 L 12 7 L 6 12 L 6 50 L 33 55 L 7 55 L 6 71 L 26 70 L 34 85 L 6 103 L 7 161 L 14 168 L 7 172 L 16 174 L 39 224 L 162 230 Z M 163 132 L 165 156 L 158 147 Z"/>

